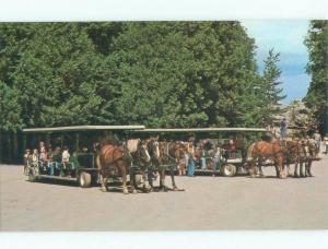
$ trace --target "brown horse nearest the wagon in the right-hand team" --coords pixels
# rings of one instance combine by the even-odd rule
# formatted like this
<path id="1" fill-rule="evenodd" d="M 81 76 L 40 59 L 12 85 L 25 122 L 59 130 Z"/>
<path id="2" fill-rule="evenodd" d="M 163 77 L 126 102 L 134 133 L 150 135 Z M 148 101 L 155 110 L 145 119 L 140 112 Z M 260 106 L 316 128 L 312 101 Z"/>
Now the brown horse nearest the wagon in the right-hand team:
<path id="1" fill-rule="evenodd" d="M 255 166 L 258 162 L 258 169 L 260 175 L 263 176 L 261 164 L 266 159 L 271 159 L 274 163 L 277 177 L 286 178 L 284 174 L 284 154 L 285 145 L 283 141 L 258 141 L 253 143 L 247 151 L 247 158 L 249 161 L 250 175 L 255 175 Z"/>

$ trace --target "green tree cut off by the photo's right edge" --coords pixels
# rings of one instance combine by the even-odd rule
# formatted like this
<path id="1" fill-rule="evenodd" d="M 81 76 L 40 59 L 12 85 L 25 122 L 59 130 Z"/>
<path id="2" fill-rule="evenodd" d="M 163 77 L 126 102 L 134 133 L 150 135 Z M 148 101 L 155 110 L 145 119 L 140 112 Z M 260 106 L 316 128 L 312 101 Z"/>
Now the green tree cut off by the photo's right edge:
<path id="1" fill-rule="evenodd" d="M 305 45 L 308 49 L 309 61 L 306 72 L 312 76 L 309 88 L 304 100 L 315 117 L 317 128 L 324 132 L 325 107 L 327 103 L 328 82 L 328 21 L 312 21 Z M 328 127 L 328 121 L 326 123 Z M 326 128 L 328 132 L 328 128 Z"/>

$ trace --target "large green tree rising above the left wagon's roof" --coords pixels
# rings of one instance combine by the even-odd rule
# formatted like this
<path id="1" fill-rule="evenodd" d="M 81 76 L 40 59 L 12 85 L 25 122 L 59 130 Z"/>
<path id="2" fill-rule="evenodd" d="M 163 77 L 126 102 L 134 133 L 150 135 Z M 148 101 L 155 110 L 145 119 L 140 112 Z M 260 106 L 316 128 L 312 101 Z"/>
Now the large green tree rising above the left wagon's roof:
<path id="1" fill-rule="evenodd" d="M 34 36 L 20 52 L 13 86 L 27 127 L 102 122 L 110 87 L 104 57 L 79 24 L 31 24 Z M 106 120 L 108 121 L 108 120 Z M 110 121 L 110 120 L 109 120 Z"/>

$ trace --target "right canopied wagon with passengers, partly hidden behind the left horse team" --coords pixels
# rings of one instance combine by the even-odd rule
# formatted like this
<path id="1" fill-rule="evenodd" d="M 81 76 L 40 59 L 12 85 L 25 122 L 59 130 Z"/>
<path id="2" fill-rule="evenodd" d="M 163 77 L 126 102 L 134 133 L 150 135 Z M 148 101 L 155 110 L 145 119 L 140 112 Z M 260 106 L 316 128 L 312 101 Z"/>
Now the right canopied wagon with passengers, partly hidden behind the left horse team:
<path id="1" fill-rule="evenodd" d="M 141 138 L 160 137 L 162 141 L 179 141 L 189 142 L 196 145 L 195 159 L 196 170 L 198 175 L 212 174 L 214 168 L 213 156 L 211 153 L 214 149 L 220 147 L 222 162 L 219 173 L 226 177 L 243 174 L 247 170 L 244 168 L 246 163 L 246 152 L 248 145 L 262 137 L 267 135 L 268 131 L 261 128 L 186 128 L 186 129 L 144 129 L 132 131 Z M 199 146 L 201 141 L 210 142 L 211 149 L 206 151 L 204 155 Z M 200 145 L 201 146 L 201 145 Z M 200 158 L 203 157 L 204 165 L 201 165 Z M 172 161 L 167 165 L 167 170 L 177 171 L 177 163 Z M 215 170 L 214 170 L 215 171 Z"/>

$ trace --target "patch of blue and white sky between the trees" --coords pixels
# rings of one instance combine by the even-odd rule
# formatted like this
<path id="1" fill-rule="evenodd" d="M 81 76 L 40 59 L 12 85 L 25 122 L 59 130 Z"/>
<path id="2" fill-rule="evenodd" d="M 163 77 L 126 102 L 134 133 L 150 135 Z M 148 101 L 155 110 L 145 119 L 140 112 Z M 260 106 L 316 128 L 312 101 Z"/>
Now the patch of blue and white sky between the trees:
<path id="1" fill-rule="evenodd" d="M 302 99 L 309 85 L 309 76 L 305 72 L 308 60 L 304 38 L 308 29 L 308 21 L 243 21 L 250 37 L 257 45 L 257 63 L 263 69 L 263 59 L 270 48 L 280 52 L 279 68 L 282 71 L 280 81 L 286 98 L 283 104 L 293 99 Z"/>

